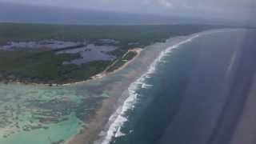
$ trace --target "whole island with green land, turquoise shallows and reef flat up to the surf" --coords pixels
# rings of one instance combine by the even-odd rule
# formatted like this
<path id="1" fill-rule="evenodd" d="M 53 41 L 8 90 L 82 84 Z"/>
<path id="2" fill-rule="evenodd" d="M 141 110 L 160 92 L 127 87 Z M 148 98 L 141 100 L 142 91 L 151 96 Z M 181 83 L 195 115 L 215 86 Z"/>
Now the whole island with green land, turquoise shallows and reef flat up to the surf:
<path id="1" fill-rule="evenodd" d="M 93 143 L 162 51 L 217 28 L 1 23 L 0 143 Z"/>

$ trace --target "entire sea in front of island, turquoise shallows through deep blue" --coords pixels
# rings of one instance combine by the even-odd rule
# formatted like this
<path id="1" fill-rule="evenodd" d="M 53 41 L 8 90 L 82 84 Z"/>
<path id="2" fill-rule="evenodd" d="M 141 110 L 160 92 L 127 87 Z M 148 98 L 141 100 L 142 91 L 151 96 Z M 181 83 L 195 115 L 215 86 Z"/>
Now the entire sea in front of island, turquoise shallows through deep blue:
<path id="1" fill-rule="evenodd" d="M 109 120 L 95 143 L 254 144 L 255 39 L 255 30 L 209 30 L 146 46 L 102 79 L 0 83 L 0 143 L 67 143 L 76 134 L 90 141 Z M 95 110 L 102 116 L 90 119 Z"/>

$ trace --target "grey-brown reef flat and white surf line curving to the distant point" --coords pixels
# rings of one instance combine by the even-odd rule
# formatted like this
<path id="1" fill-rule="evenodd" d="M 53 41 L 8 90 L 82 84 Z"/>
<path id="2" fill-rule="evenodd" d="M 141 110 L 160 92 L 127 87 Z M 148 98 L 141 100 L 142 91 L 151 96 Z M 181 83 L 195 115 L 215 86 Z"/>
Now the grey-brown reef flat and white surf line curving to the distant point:
<path id="1" fill-rule="evenodd" d="M 135 90 L 138 86 L 146 85 L 143 83 L 144 79 L 154 73 L 155 66 L 158 62 L 161 62 L 165 54 L 186 42 L 192 41 L 194 38 L 202 37 L 205 34 L 225 32 L 226 30 L 238 29 L 206 30 L 188 36 L 170 38 L 167 40 L 167 42 L 170 42 L 169 46 L 162 46 L 159 49 L 155 49 L 154 45 L 145 48 L 134 62 L 127 64 L 126 70 L 129 71 L 130 67 L 132 70 L 126 74 L 122 82 L 111 84 L 113 86 L 111 86 L 112 89 L 109 90 L 109 94 L 113 96 L 102 103 L 102 107 L 97 110 L 93 121 L 87 125 L 85 132 L 70 138 L 66 143 L 108 144 L 113 136 L 121 136 L 122 133 L 118 130 L 120 130 L 123 122 L 126 122 L 124 117 L 126 110 L 132 108 L 136 102 Z M 136 67 L 136 65 L 139 65 L 139 67 Z M 130 107 L 127 107 L 127 105 Z"/>

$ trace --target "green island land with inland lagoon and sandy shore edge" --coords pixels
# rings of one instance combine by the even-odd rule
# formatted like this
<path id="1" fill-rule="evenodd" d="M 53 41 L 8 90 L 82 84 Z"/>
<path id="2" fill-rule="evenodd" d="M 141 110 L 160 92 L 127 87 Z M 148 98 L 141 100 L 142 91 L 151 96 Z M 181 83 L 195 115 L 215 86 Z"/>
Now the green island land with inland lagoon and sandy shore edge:
<path id="1" fill-rule="evenodd" d="M 145 46 L 214 27 L 0 23 L 0 81 L 53 86 L 98 78 Z"/>

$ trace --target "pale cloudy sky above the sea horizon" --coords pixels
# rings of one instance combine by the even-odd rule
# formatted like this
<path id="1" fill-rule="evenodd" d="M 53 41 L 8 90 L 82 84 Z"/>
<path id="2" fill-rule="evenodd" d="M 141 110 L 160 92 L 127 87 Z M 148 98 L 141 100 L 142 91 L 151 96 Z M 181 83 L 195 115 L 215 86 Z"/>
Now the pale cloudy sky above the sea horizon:
<path id="1" fill-rule="evenodd" d="M 0 0 L 0 2 L 218 18 L 251 18 L 252 15 L 256 15 L 256 0 Z"/>

